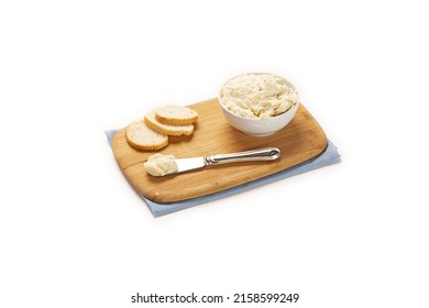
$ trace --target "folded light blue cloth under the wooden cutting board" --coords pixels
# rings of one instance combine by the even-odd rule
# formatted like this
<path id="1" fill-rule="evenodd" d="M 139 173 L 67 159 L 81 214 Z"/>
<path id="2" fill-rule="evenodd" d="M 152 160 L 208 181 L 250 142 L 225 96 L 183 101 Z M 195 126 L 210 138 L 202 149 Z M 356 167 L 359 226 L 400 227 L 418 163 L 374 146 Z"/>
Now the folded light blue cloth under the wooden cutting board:
<path id="1" fill-rule="evenodd" d="M 116 133 L 117 133 L 117 130 L 111 130 L 111 131 L 106 132 L 110 143 L 111 143 L 112 138 Z M 241 191 L 245 191 L 245 190 L 249 190 L 249 189 L 252 189 L 254 187 L 258 187 L 258 186 L 262 186 L 265 184 L 270 184 L 270 183 L 273 183 L 275 180 L 286 178 L 286 177 L 290 177 L 290 176 L 306 173 L 306 172 L 309 172 L 312 169 L 317 169 L 320 167 L 332 165 L 334 163 L 340 162 L 340 160 L 341 160 L 341 155 L 337 151 L 337 147 L 333 145 L 333 143 L 331 141 L 328 140 L 327 148 L 318 156 L 316 156 L 311 160 L 308 160 L 299 165 L 290 167 L 288 169 L 272 174 L 272 175 L 266 176 L 264 178 L 260 178 L 260 179 L 256 179 L 256 180 L 253 180 L 253 182 L 250 182 L 250 183 L 246 183 L 246 184 L 243 184 L 243 185 L 240 185 L 240 186 L 227 189 L 227 190 L 222 190 L 219 193 L 215 193 L 215 194 L 199 197 L 199 198 L 195 198 L 195 199 L 170 202 L 170 204 L 158 204 L 158 202 L 154 202 L 152 200 L 148 200 L 147 198 L 143 197 L 142 195 L 140 195 L 140 196 L 146 202 L 146 205 L 151 209 L 153 216 L 160 217 L 163 215 L 167 215 L 167 213 L 184 210 L 184 209 L 187 209 L 190 207 L 195 207 L 195 206 L 201 205 L 204 202 L 224 198 L 224 197 L 228 197 L 228 196 L 241 193 Z"/>

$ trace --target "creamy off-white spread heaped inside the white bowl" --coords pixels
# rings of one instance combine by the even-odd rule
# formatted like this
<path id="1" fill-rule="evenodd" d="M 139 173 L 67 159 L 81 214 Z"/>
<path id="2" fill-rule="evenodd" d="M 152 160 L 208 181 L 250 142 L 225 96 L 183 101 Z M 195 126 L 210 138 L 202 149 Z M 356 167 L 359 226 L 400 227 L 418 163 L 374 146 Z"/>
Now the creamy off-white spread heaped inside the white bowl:
<path id="1" fill-rule="evenodd" d="M 220 92 L 222 105 L 250 119 L 272 118 L 297 103 L 297 91 L 272 74 L 244 74 L 229 80 Z"/>

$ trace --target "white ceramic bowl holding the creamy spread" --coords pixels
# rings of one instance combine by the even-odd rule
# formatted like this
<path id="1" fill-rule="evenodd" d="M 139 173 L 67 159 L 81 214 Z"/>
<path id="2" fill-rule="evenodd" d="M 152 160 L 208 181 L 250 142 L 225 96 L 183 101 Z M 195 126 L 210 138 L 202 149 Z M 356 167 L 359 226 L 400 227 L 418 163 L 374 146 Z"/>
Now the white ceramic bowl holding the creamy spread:
<path id="1" fill-rule="evenodd" d="M 248 73 L 248 74 L 264 74 L 264 73 Z M 248 75 L 245 74 L 245 75 Z M 273 75 L 273 74 L 270 74 Z M 238 77 L 238 76 L 237 76 Z M 234 77 L 234 78 L 237 78 Z M 282 77 L 280 77 L 282 78 Z M 285 78 L 282 78 L 287 86 L 295 89 L 294 85 L 292 85 Z M 222 90 L 221 90 L 222 92 Z M 264 119 L 250 119 L 238 116 L 232 111 L 228 110 L 227 107 L 222 103 L 222 96 L 219 95 L 219 105 L 222 109 L 223 116 L 228 120 L 228 122 L 239 131 L 252 135 L 252 136 L 265 136 L 271 135 L 283 128 L 285 128 L 295 117 L 296 111 L 299 107 L 299 95 L 297 96 L 297 102 L 286 112 Z"/>

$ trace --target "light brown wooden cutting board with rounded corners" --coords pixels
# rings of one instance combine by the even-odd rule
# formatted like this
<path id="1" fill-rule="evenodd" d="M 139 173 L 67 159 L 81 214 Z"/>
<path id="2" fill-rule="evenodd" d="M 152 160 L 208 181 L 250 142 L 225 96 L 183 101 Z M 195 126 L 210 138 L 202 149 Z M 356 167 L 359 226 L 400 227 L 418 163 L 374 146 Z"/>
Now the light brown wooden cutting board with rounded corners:
<path id="1" fill-rule="evenodd" d="M 114 156 L 134 189 L 156 202 L 187 200 L 235 187 L 287 169 L 323 152 L 327 138 L 315 118 L 300 103 L 293 121 L 270 136 L 249 136 L 232 128 L 221 113 L 218 100 L 190 105 L 199 113 L 194 134 L 169 138 L 169 144 L 157 152 L 131 147 L 125 130 L 112 140 Z M 143 116 L 142 116 L 143 118 Z M 248 151 L 264 146 L 280 148 L 274 162 L 253 162 L 209 166 L 202 169 L 164 177 L 150 176 L 143 163 L 155 153 L 177 158 Z"/>

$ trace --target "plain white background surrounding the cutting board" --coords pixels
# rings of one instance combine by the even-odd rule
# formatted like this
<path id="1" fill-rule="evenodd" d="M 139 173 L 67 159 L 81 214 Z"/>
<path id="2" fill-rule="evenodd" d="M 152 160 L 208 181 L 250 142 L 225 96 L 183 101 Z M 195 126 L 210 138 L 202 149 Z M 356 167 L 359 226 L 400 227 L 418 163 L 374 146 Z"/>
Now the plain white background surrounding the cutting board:
<path id="1" fill-rule="evenodd" d="M 429 307 L 427 29 L 425 1 L 2 1 L 0 306 Z M 292 80 L 342 162 L 153 218 L 105 130 L 246 72 Z"/>

